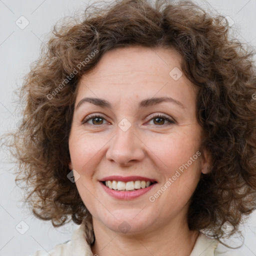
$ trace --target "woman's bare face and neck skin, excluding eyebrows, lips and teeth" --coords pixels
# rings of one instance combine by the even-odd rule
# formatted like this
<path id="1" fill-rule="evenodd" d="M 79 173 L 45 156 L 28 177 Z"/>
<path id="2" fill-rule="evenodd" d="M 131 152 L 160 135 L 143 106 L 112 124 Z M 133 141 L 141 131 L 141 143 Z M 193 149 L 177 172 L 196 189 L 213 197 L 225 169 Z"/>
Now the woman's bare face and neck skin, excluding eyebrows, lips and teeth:
<path id="1" fill-rule="evenodd" d="M 175 171 L 199 150 L 202 128 L 196 120 L 196 90 L 185 77 L 169 72 L 180 67 L 174 50 L 129 46 L 106 52 L 93 72 L 80 79 L 69 136 L 76 186 L 92 214 L 92 252 L 104 255 L 180 255 L 192 251 L 197 231 L 186 221 L 189 199 L 209 161 L 205 152 L 184 169 L 167 189 L 149 201 Z M 168 96 L 178 100 L 138 108 L 141 100 Z M 112 109 L 78 102 L 84 97 L 109 101 Z M 90 119 L 91 113 L 103 119 Z M 163 114 L 174 123 L 153 118 Z M 118 123 L 131 126 L 123 131 Z M 157 122 L 158 120 L 158 122 Z M 137 198 L 115 199 L 99 180 L 109 175 L 139 175 L 157 181 Z M 118 226 L 125 222 L 128 232 Z"/>

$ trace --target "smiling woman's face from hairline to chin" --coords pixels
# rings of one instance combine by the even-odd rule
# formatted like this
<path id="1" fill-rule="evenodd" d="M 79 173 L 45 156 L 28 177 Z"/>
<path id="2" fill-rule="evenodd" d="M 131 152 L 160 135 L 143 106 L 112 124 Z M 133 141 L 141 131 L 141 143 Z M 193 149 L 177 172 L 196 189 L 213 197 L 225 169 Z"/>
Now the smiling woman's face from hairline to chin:
<path id="1" fill-rule="evenodd" d="M 69 167 L 93 224 L 138 233 L 185 222 L 205 163 L 196 92 L 180 70 L 178 53 L 134 46 L 80 79 Z"/>

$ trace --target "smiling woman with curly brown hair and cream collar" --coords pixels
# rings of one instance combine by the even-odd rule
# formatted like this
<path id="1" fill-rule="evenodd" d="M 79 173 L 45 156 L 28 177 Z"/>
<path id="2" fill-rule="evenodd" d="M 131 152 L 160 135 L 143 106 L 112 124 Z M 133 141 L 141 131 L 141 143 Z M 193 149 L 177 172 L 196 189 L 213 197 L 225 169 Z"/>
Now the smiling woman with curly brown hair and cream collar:
<path id="1" fill-rule="evenodd" d="M 36 217 L 81 224 L 34 255 L 235 255 L 220 239 L 256 208 L 253 52 L 188 1 L 85 13 L 21 88 L 16 181 Z"/>

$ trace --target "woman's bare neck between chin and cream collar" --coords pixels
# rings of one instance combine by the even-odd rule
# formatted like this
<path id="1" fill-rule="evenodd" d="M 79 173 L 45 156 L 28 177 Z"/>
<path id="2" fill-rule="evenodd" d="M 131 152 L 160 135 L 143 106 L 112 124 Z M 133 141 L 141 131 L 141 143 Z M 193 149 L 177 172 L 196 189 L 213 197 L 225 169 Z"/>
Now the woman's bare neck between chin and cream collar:
<path id="1" fill-rule="evenodd" d="M 91 247 L 94 255 L 109 256 L 189 256 L 199 235 L 189 230 L 185 223 L 173 221 L 153 231 L 123 234 L 102 226 L 93 219 L 95 243 Z"/>

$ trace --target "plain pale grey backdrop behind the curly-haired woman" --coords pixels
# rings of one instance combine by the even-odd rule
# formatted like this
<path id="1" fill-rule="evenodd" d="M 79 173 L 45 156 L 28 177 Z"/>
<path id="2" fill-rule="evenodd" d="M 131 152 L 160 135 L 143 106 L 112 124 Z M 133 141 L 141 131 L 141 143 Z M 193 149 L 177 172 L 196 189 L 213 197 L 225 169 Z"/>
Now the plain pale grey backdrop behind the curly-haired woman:
<path id="1" fill-rule="evenodd" d="M 234 35 L 255 48 L 256 0 L 195 2 L 224 16 L 228 15 L 234 22 Z M 14 100 L 17 98 L 13 91 L 21 85 L 30 63 L 38 57 L 40 44 L 46 40 L 46 35 L 57 20 L 72 15 L 74 11 L 82 12 L 87 3 L 85 0 L 0 0 L 0 134 L 15 129 L 20 120 L 19 113 L 15 111 Z M 25 28 L 21 27 L 23 29 L 19 27 L 21 24 L 18 26 L 15 23 L 16 20 L 21 23 L 20 19 L 22 25 L 29 22 Z M 68 223 L 55 229 L 50 221 L 42 221 L 31 215 L 19 202 L 22 191 L 16 187 L 15 176 L 10 173 L 14 165 L 7 163 L 6 150 L 1 149 L 0 162 L 0 255 L 28 256 L 38 249 L 48 251 L 55 244 L 69 240 L 78 225 Z M 18 226 L 22 226 L 20 231 L 15 228 Z M 239 249 L 241 255 L 256 255 L 256 212 L 242 228 L 245 230 L 245 241 Z M 24 234 L 20 233 L 24 231 Z"/>

